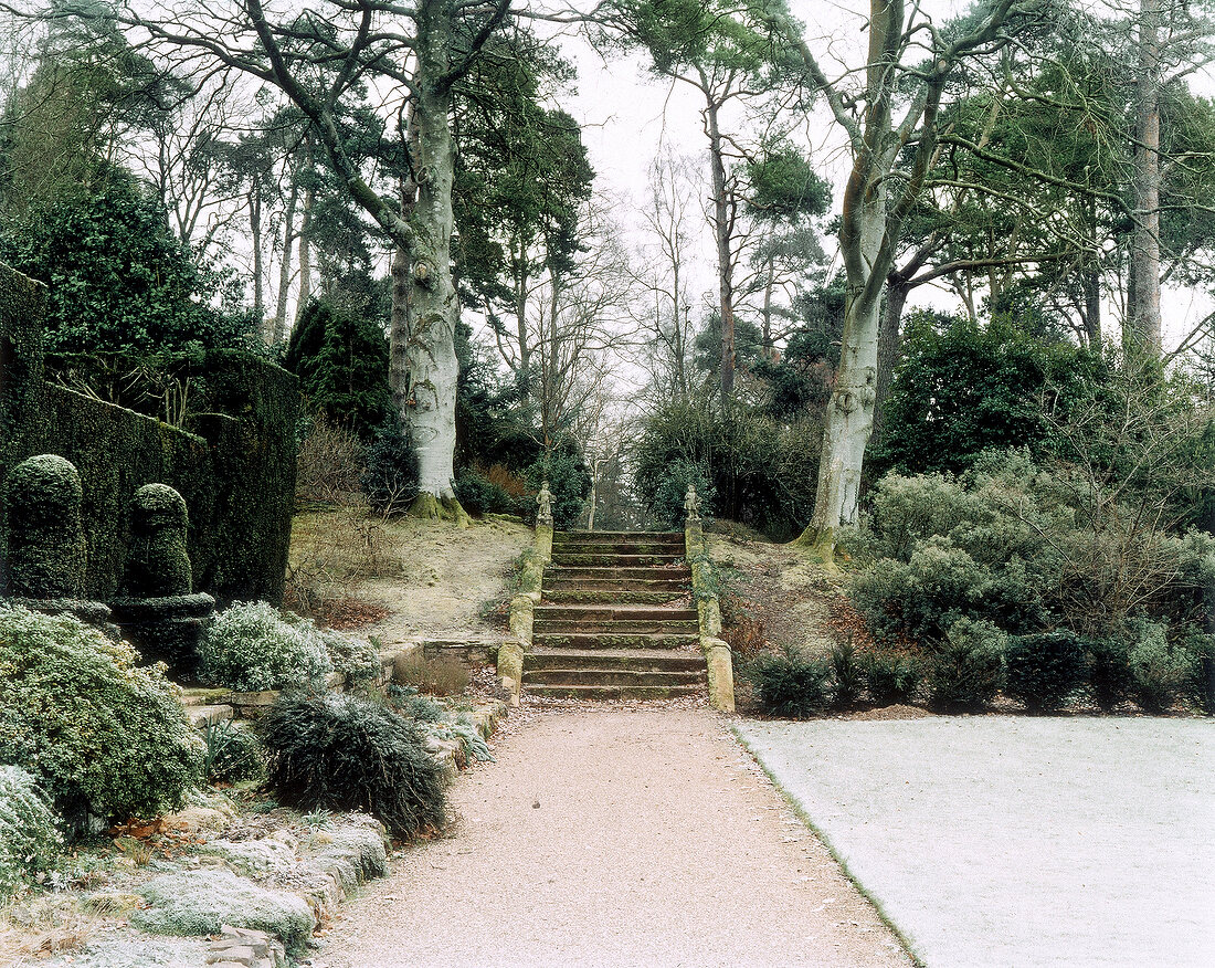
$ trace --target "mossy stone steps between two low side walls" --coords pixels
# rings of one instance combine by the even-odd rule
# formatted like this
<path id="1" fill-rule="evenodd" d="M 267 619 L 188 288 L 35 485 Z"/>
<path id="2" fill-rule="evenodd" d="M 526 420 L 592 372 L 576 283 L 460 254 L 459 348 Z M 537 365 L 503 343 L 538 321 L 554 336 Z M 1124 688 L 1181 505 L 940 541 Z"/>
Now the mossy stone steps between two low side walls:
<path id="1" fill-rule="evenodd" d="M 703 693 L 684 553 L 682 533 L 556 533 L 524 691 L 584 699 Z"/>

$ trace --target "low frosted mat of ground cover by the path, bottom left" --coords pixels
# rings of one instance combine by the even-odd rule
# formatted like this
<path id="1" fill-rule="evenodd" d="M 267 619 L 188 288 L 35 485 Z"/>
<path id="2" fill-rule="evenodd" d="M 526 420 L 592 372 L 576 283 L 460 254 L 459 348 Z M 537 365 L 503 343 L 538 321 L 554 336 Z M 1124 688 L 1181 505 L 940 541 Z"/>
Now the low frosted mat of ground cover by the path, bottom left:
<path id="1" fill-rule="evenodd" d="M 259 888 L 230 871 L 165 874 L 142 887 L 151 907 L 132 911 L 131 924 L 153 934 L 219 934 L 220 925 L 269 932 L 299 953 L 316 922 L 294 894 Z"/>

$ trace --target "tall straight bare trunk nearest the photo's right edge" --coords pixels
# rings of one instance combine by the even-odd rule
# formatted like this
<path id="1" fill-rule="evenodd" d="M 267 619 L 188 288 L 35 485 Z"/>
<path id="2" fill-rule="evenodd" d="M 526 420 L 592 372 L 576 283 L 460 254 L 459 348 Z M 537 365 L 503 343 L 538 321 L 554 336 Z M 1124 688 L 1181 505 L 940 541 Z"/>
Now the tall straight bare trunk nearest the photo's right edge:
<path id="1" fill-rule="evenodd" d="M 1140 0 L 1129 348 L 1160 356 L 1160 0 Z"/>

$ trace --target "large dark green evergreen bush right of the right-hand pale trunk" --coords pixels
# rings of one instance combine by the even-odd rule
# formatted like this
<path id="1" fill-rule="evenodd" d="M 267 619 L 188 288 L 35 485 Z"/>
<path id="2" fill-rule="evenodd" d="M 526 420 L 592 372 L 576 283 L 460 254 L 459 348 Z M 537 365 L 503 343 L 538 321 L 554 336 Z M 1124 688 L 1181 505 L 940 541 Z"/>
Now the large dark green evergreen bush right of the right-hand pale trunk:
<path id="1" fill-rule="evenodd" d="M 944 330 L 914 320 L 903 350 L 872 455 L 877 473 L 956 473 L 993 448 L 1036 456 L 1050 444 L 1046 407 L 1066 409 L 1100 371 L 1083 350 L 1046 344 L 1006 320 L 981 328 L 957 319 Z"/>

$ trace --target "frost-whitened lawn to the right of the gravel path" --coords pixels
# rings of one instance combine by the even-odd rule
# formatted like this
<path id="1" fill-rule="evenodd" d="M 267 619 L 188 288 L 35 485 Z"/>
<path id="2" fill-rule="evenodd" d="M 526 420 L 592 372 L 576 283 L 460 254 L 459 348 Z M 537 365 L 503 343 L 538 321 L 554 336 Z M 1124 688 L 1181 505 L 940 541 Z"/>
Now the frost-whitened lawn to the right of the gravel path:
<path id="1" fill-rule="evenodd" d="M 741 722 L 929 968 L 1215 964 L 1215 725 Z"/>

